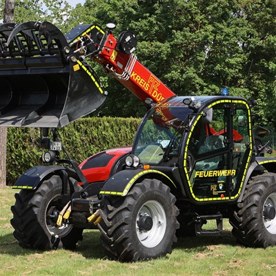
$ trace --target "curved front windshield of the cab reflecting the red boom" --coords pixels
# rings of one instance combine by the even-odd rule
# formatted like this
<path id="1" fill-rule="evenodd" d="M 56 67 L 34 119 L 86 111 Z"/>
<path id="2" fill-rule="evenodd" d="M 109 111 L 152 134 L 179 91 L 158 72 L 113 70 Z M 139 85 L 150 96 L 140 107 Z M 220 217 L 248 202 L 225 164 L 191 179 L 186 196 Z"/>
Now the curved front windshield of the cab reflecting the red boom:
<path id="1" fill-rule="evenodd" d="M 179 144 L 188 125 L 187 106 L 157 106 L 145 119 L 134 145 L 134 155 L 142 164 L 159 164 L 164 157 L 178 155 Z"/>

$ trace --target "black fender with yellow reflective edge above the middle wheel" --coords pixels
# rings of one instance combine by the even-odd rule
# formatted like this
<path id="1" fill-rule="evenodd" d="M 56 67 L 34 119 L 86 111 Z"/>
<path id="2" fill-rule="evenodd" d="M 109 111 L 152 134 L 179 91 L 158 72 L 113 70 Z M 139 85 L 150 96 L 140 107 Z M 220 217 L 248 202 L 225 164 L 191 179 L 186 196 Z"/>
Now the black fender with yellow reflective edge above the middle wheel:
<path id="1" fill-rule="evenodd" d="M 159 170 L 121 170 L 106 181 L 99 194 L 124 197 L 135 183 L 144 178 L 164 179 L 168 186 L 176 187 L 172 179 Z"/>

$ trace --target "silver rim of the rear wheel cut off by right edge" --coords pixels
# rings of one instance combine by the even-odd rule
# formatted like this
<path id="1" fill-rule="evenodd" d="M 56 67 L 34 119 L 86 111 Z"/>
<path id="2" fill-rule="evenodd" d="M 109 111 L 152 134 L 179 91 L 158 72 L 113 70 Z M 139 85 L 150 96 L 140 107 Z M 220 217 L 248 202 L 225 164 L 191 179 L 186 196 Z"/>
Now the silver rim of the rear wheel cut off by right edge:
<path id="1" fill-rule="evenodd" d="M 264 202 L 263 221 L 266 230 L 276 234 L 276 193 L 270 194 Z"/>

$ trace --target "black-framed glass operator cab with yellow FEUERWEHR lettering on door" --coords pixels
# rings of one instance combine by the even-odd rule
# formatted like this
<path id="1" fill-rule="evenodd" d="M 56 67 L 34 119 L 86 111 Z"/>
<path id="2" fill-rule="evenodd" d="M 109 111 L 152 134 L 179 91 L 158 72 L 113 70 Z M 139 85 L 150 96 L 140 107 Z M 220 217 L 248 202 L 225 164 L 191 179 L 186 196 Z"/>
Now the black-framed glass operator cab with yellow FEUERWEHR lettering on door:
<path id="1" fill-rule="evenodd" d="M 252 137 L 244 99 L 173 97 L 148 112 L 132 155 L 158 170 L 177 166 L 195 201 L 231 200 L 241 193 Z"/>

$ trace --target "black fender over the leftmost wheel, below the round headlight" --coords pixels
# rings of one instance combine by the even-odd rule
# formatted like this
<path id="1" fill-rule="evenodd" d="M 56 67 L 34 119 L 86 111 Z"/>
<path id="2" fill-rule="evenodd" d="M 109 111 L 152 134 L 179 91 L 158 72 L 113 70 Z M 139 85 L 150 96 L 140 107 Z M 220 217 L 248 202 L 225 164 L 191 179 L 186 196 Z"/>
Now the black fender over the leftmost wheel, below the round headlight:
<path id="1" fill-rule="evenodd" d="M 17 179 L 12 188 L 35 190 L 39 188 L 43 179 L 45 179 L 50 174 L 57 174 L 61 177 L 63 182 L 63 193 L 67 193 L 68 177 L 73 177 L 77 181 L 80 181 L 77 173 L 71 168 L 64 166 L 34 166 L 33 168 L 30 168 L 24 172 L 23 175 Z"/>

